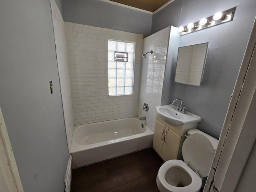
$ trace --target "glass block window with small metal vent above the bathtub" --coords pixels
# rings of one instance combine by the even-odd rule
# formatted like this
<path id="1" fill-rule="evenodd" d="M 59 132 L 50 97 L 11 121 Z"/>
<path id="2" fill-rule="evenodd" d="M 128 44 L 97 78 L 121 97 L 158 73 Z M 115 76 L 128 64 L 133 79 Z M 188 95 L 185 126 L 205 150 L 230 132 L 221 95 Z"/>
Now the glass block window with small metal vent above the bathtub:
<path id="1" fill-rule="evenodd" d="M 108 95 L 133 94 L 135 43 L 108 40 Z"/>

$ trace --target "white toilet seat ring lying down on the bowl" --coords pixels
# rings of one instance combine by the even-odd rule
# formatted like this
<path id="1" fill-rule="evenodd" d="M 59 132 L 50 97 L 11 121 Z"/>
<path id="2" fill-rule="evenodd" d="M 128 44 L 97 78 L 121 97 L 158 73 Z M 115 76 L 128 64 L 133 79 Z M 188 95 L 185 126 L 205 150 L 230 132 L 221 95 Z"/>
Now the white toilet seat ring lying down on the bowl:
<path id="1" fill-rule="evenodd" d="M 184 172 L 186 172 L 186 174 L 191 177 L 191 183 L 184 187 L 176 187 L 168 184 L 165 176 L 166 172 L 172 167 L 177 167 L 184 170 Z M 157 174 L 156 183 L 158 189 L 161 192 L 199 192 L 202 186 L 202 179 L 182 160 L 169 160 L 162 164 L 162 166 L 160 167 Z"/>

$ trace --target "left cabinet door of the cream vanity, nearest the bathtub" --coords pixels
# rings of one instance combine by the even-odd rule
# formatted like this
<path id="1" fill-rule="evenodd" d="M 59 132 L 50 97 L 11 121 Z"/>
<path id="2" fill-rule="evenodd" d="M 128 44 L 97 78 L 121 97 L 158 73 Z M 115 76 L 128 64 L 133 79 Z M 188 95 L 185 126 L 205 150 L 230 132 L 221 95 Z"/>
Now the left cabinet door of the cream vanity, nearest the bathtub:
<path id="1" fill-rule="evenodd" d="M 162 157 L 163 146 L 164 146 L 164 131 L 165 125 L 156 120 L 153 148 L 156 150 L 158 155 Z"/>

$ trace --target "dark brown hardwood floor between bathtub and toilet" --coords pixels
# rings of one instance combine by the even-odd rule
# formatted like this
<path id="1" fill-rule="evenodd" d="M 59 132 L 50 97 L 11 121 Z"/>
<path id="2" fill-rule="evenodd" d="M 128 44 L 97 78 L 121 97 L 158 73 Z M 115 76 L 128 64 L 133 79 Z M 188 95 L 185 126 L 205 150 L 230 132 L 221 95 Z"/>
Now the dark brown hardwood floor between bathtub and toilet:
<path id="1" fill-rule="evenodd" d="M 159 192 L 153 148 L 72 170 L 71 192 Z"/>

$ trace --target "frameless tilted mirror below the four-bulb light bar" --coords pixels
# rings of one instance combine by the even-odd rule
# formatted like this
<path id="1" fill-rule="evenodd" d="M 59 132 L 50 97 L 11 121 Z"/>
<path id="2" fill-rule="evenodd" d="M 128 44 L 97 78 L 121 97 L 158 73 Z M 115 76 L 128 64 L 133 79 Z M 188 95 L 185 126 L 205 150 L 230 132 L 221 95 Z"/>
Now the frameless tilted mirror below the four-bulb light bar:
<path id="1" fill-rule="evenodd" d="M 175 82 L 200 86 L 208 52 L 208 42 L 179 47 Z"/>

